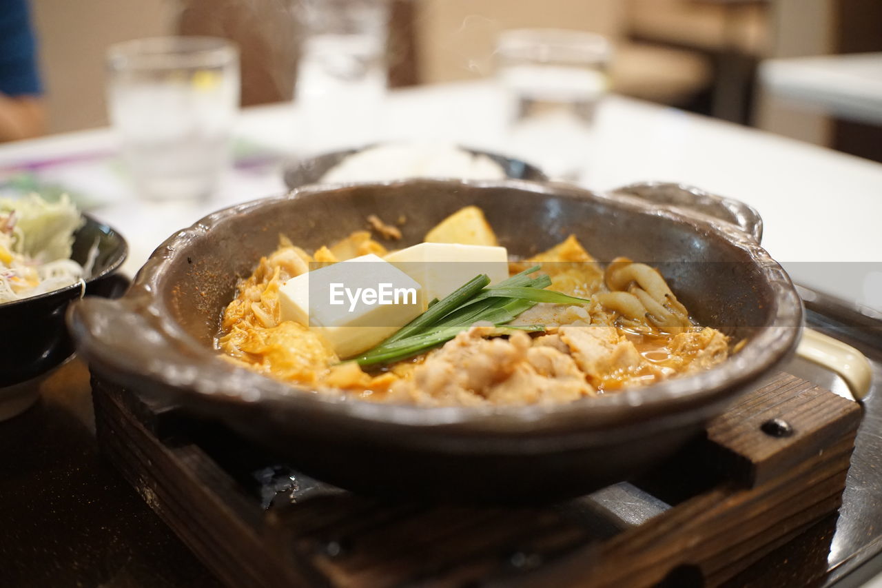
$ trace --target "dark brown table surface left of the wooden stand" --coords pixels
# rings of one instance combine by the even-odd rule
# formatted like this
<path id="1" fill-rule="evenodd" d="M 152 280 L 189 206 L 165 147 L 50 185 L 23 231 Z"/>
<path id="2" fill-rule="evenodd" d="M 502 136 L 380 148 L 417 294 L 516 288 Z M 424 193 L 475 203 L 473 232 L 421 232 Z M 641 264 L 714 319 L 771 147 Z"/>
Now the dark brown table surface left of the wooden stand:
<path id="1" fill-rule="evenodd" d="M 99 455 L 76 359 L 0 423 L 0 585 L 220 585 Z"/>

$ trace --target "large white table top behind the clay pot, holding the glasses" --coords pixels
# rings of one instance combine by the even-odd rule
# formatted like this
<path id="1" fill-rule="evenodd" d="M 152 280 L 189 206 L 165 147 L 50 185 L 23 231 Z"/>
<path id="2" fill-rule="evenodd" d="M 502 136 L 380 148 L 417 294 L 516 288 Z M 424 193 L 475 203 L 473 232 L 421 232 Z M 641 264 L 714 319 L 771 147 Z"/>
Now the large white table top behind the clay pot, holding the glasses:
<path id="1" fill-rule="evenodd" d="M 487 82 L 394 92 L 373 118 L 374 128 L 360 129 L 357 140 L 443 139 L 511 152 L 502 98 Z M 0 146 L 0 193 L 4 181 L 8 188 L 11 177 L 29 169 L 44 183 L 101 200 L 93 215 L 129 239 L 126 268 L 133 272 L 165 237 L 202 215 L 283 192 L 278 162 L 266 153 L 302 153 L 308 145 L 330 148 L 355 140 L 343 125 L 310 137 L 303 113 L 291 104 L 246 109 L 237 135 L 253 153 L 238 158 L 207 203 L 158 206 L 138 200 L 116 163 L 108 130 Z M 597 115 L 583 183 L 608 190 L 645 180 L 697 185 L 751 204 L 765 222 L 763 244 L 796 282 L 882 310 L 882 165 L 610 96 Z"/>

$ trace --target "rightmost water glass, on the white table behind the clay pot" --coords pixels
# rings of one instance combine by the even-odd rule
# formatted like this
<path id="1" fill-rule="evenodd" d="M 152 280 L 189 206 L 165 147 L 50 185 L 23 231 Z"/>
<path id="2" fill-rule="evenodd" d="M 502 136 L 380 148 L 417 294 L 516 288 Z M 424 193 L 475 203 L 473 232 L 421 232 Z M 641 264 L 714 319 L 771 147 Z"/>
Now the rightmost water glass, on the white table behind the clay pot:
<path id="1" fill-rule="evenodd" d="M 594 111 L 609 87 L 611 49 L 599 34 L 514 29 L 497 40 L 511 148 L 556 179 L 578 179 L 593 145 Z"/>

